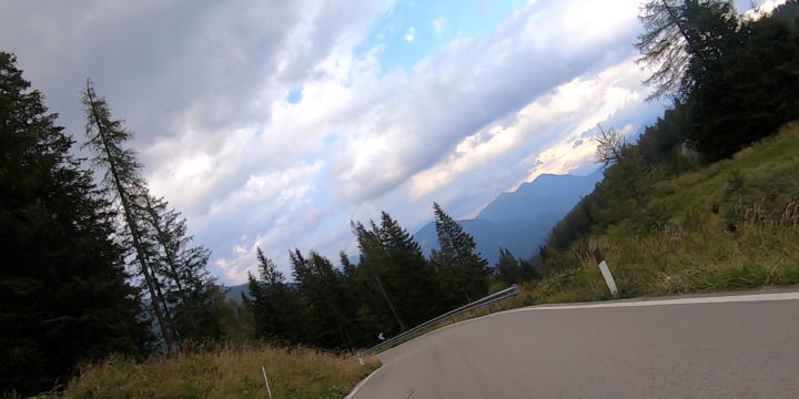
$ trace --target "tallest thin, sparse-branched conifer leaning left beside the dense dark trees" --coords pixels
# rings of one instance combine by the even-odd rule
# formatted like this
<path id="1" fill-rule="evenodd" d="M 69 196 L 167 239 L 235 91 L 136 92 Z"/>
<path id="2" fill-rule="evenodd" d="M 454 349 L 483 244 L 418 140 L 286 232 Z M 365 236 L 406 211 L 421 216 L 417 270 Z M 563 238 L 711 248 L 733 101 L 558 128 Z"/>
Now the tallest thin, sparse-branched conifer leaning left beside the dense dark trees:
<path id="1" fill-rule="evenodd" d="M 178 350 L 173 338 L 174 326 L 170 323 L 170 315 L 165 311 L 168 310 L 165 298 L 159 289 L 160 283 L 156 276 L 153 275 L 153 259 L 150 258 L 152 246 L 144 242 L 143 223 L 136 217 L 136 202 L 149 193 L 146 183 L 141 176 L 142 164 L 139 163 L 136 152 L 123 147 L 124 143 L 133 137 L 133 132 L 124 127 L 123 121 L 112 119 L 105 99 L 97 95 L 91 81 L 87 81 L 82 103 L 87 115 L 85 134 L 88 139 L 83 147 L 88 147 L 94 153 L 94 167 L 104 171 L 103 188 L 121 205 L 123 234 L 130 237 L 133 246 L 135 263 L 150 294 L 161 336 L 169 350 Z"/>

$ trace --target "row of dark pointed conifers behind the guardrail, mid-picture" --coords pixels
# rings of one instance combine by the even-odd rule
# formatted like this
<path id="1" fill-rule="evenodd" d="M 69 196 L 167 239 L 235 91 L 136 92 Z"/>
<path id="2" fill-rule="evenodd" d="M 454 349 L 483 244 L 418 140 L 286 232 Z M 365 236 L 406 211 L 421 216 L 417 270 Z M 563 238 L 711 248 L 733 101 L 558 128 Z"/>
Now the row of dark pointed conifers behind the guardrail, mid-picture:
<path id="1" fill-rule="evenodd" d="M 257 248 L 259 276 L 249 276 L 242 300 L 257 337 L 286 346 L 366 348 L 454 308 L 489 289 L 538 278 L 532 264 L 507 249 L 496 267 L 475 253 L 471 235 L 434 203 L 441 249 L 425 258 L 419 245 L 388 213 L 378 223 L 351 222 L 360 260 L 340 254 L 336 267 L 311 250 L 289 253 L 293 280 Z M 492 284 L 494 283 L 494 284 Z"/>

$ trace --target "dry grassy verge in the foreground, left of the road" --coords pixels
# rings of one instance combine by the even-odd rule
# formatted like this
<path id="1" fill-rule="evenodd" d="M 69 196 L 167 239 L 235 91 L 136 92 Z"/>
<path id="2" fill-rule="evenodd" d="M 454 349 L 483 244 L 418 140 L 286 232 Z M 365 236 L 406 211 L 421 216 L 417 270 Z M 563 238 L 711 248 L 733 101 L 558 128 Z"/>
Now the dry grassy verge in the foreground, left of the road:
<path id="1" fill-rule="evenodd" d="M 143 364 L 112 358 L 84 369 L 62 392 L 38 398 L 269 398 L 261 366 L 274 399 L 341 399 L 380 364 L 345 365 L 334 355 L 265 346 L 227 347 Z"/>

